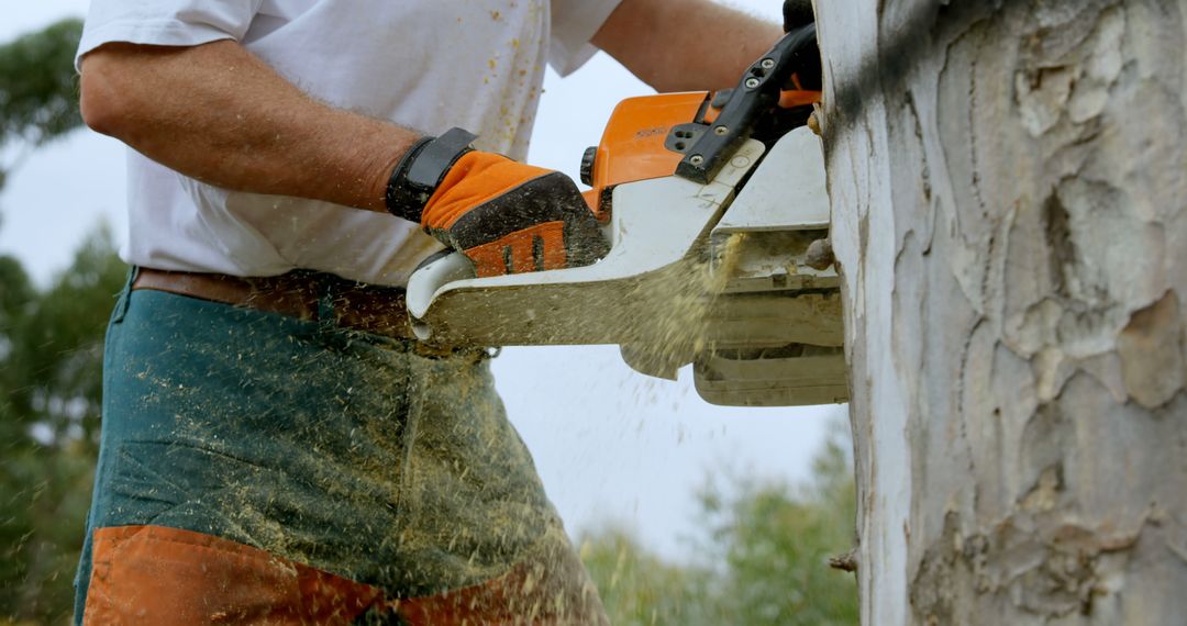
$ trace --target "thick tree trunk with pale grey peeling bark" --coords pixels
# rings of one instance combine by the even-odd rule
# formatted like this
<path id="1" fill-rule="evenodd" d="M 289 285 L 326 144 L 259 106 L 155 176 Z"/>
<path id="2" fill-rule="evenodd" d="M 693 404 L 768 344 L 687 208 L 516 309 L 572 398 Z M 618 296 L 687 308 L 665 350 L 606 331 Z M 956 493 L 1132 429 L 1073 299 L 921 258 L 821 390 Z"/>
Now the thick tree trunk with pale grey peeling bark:
<path id="1" fill-rule="evenodd" d="M 863 624 L 1187 624 L 1187 0 L 817 0 Z"/>

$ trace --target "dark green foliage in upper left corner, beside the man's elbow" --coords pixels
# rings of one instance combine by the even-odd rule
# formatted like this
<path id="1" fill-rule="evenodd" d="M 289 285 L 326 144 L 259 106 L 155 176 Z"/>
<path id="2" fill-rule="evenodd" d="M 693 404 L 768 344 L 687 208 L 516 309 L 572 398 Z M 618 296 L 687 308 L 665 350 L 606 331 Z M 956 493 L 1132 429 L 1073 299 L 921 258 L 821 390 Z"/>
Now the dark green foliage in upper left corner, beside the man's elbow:
<path id="1" fill-rule="evenodd" d="M 0 45 L 0 148 L 31 149 L 82 123 L 74 55 L 82 21 L 68 19 Z M 0 187 L 9 164 L 0 162 Z"/>

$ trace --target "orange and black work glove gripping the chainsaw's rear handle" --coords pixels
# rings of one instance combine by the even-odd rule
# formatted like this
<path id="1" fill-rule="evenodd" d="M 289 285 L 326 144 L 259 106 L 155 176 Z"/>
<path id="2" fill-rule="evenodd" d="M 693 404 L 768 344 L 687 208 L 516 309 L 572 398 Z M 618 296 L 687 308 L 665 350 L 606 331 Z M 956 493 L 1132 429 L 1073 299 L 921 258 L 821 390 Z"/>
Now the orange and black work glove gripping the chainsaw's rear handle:
<path id="1" fill-rule="evenodd" d="M 577 185 L 560 172 L 480 152 L 453 128 L 417 142 L 387 209 L 474 262 L 478 276 L 588 266 L 609 251 Z"/>

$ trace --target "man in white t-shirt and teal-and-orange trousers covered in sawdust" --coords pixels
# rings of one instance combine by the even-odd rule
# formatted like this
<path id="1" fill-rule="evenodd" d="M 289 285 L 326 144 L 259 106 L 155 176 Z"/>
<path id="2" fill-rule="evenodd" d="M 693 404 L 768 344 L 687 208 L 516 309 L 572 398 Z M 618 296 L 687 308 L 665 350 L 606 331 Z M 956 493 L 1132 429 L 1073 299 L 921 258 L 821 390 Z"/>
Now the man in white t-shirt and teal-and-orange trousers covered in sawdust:
<path id="1" fill-rule="evenodd" d="M 417 345 L 401 287 L 443 245 L 604 253 L 567 178 L 501 156 L 545 63 L 723 88 L 779 34 L 707 0 L 94 0 L 82 111 L 132 148 L 138 269 L 76 621 L 603 622 L 487 354 Z"/>

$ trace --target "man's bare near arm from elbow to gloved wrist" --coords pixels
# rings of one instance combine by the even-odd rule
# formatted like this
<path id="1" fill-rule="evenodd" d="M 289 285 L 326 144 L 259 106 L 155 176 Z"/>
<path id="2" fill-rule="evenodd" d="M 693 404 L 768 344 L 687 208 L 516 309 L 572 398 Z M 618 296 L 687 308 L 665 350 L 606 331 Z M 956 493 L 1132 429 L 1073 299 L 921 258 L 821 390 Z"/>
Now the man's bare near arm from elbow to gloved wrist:
<path id="1" fill-rule="evenodd" d="M 309 97 L 231 40 L 83 58 L 88 126 L 204 183 L 383 211 L 417 134 Z"/>

